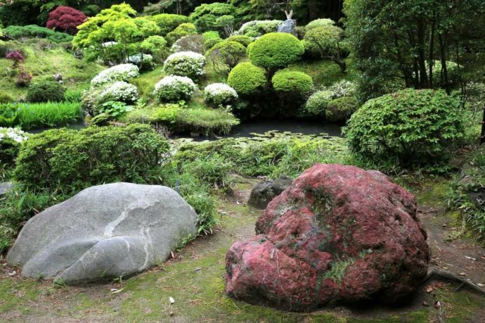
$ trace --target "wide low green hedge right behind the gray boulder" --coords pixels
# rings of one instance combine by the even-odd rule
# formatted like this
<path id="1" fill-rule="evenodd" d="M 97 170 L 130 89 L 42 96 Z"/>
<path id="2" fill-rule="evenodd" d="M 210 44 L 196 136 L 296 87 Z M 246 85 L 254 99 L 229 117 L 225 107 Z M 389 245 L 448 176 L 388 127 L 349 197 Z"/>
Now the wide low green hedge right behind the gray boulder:
<path id="1" fill-rule="evenodd" d="M 20 148 L 14 176 L 27 188 L 66 191 L 110 182 L 148 181 L 169 151 L 149 125 L 53 129 Z"/>

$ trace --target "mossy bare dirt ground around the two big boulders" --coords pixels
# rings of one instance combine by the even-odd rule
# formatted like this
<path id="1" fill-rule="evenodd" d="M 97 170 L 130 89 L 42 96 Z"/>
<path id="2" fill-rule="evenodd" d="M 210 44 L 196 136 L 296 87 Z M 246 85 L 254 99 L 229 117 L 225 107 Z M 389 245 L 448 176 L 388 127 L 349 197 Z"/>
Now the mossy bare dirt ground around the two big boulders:
<path id="1" fill-rule="evenodd" d="M 485 297 L 450 281 L 432 279 L 399 308 L 323 308 L 293 313 L 247 305 L 224 295 L 224 260 L 234 241 L 254 235 L 260 210 L 246 205 L 257 179 L 238 177 L 221 194 L 221 225 L 176 257 L 131 279 L 88 286 L 56 286 L 20 277 L 0 263 L 1 322 L 485 322 Z M 485 284 L 485 248 L 460 236 L 444 207 L 441 183 L 415 191 L 428 232 L 431 267 Z M 172 297 L 175 303 L 171 304 Z M 439 302 L 439 306 L 438 303 Z M 427 306 L 423 305 L 427 304 Z M 436 305 L 436 306 L 435 306 Z"/>

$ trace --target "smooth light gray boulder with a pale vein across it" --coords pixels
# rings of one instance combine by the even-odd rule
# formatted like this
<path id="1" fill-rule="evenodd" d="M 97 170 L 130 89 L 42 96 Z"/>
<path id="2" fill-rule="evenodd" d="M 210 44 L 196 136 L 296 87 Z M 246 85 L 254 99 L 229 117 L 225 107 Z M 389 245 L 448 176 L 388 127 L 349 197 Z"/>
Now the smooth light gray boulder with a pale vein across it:
<path id="1" fill-rule="evenodd" d="M 7 255 L 22 275 L 66 284 L 130 276 L 197 234 L 193 208 L 165 186 L 93 186 L 32 217 Z"/>

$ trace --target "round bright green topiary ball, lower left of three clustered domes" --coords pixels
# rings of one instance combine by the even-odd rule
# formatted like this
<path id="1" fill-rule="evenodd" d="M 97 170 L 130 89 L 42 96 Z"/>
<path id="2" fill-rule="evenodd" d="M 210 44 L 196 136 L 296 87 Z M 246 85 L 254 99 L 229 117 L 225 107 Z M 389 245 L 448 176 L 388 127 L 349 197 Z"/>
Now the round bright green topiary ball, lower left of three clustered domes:
<path id="1" fill-rule="evenodd" d="M 266 86 L 266 75 L 262 68 L 251 63 L 239 63 L 231 70 L 227 82 L 238 94 L 256 94 Z"/>

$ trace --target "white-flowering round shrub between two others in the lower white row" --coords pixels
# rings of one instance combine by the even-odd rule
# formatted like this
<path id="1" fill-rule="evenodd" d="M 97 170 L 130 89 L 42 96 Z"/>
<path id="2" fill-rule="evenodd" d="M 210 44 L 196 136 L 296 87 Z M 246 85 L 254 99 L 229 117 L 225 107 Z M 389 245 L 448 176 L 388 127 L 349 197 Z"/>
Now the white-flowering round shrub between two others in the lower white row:
<path id="1" fill-rule="evenodd" d="M 160 102 L 176 102 L 189 100 L 197 86 L 188 77 L 170 75 L 155 84 L 153 96 Z"/>

